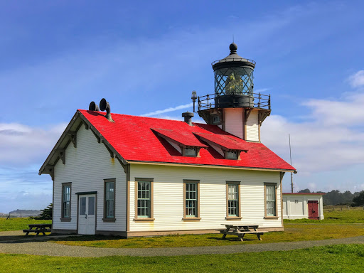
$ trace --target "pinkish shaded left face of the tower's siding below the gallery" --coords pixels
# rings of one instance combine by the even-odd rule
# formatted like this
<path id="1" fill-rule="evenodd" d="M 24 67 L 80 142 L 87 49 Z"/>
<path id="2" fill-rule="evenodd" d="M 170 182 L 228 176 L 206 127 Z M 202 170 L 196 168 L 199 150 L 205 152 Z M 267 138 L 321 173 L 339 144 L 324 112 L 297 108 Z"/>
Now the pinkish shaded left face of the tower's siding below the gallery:
<path id="1" fill-rule="evenodd" d="M 243 108 L 225 108 L 224 109 L 224 122 L 225 131 L 233 134 L 240 139 L 243 139 L 242 135 L 244 130 L 244 121 L 242 120 L 242 110 Z"/>

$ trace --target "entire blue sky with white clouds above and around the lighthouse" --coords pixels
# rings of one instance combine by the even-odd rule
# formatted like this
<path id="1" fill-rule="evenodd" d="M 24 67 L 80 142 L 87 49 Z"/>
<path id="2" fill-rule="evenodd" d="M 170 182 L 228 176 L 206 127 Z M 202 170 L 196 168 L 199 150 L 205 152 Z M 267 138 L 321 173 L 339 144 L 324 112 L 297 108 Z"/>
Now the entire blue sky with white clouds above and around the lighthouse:
<path id="1" fill-rule="evenodd" d="M 106 4 L 105 4 L 106 3 Z M 182 119 L 214 60 L 255 60 L 262 143 L 294 191 L 363 191 L 363 1 L 0 1 L 0 213 L 43 209 L 38 170 L 76 109 Z M 194 122 L 203 122 L 195 114 Z M 291 177 L 283 191 L 291 189 Z"/>

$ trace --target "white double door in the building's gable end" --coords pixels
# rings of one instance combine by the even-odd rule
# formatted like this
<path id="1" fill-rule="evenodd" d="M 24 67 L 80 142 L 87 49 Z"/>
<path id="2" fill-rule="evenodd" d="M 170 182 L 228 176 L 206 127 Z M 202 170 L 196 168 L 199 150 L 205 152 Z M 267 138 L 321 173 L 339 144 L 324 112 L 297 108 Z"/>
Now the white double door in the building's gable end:
<path id="1" fill-rule="evenodd" d="M 96 227 L 95 194 L 78 198 L 78 234 L 94 235 Z"/>

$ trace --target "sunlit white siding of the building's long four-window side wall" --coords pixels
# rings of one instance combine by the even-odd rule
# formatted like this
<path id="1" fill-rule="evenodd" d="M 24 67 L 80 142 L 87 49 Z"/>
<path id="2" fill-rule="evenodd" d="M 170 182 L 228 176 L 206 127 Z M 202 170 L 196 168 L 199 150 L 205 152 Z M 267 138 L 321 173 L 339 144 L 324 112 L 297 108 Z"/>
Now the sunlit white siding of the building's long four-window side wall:
<path id="1" fill-rule="evenodd" d="M 135 178 L 154 178 L 154 222 L 135 222 Z M 224 223 L 280 228 L 279 172 L 132 164 L 130 173 L 130 231 L 221 229 Z M 183 179 L 200 181 L 199 222 L 183 221 Z M 241 181 L 242 220 L 226 221 L 226 181 Z M 277 219 L 264 219 L 264 182 L 277 183 Z"/>

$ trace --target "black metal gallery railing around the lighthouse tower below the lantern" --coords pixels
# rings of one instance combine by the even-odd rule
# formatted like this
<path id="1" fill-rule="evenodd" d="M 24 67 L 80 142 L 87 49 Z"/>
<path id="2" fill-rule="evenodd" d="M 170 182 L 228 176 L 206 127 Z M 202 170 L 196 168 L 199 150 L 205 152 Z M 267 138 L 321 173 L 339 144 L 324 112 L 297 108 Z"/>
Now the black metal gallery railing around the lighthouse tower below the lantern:
<path id="1" fill-rule="evenodd" d="M 242 98 L 247 98 L 246 102 L 241 102 Z M 246 96 L 244 94 L 209 94 L 197 97 L 197 99 L 198 111 L 223 107 L 250 107 L 270 110 L 270 95 L 263 95 L 261 93 L 247 93 Z"/>

